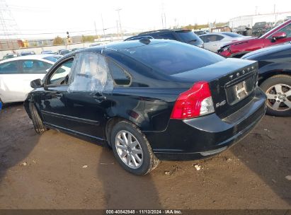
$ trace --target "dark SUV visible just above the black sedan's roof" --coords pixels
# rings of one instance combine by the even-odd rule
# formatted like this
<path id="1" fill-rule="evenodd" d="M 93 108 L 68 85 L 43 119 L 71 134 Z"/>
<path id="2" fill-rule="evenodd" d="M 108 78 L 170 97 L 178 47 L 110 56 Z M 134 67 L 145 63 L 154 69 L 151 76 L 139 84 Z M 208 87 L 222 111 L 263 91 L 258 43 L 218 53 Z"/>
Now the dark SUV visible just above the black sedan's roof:
<path id="1" fill-rule="evenodd" d="M 140 40 L 142 38 L 148 39 L 164 39 L 164 40 L 177 40 L 179 42 L 185 42 L 190 45 L 195 45 L 198 47 L 203 47 L 204 42 L 188 29 L 164 29 L 164 30 L 152 30 L 144 33 L 139 33 L 138 35 L 128 37 L 125 41 L 128 40 Z"/>

